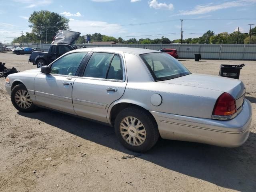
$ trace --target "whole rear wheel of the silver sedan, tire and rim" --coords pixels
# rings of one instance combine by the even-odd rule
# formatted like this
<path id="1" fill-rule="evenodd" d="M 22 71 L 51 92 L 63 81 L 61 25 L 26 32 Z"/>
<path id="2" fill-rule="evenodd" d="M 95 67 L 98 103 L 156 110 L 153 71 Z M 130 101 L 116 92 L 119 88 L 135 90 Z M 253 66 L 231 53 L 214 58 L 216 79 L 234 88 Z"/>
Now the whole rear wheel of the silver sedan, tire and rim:
<path id="1" fill-rule="evenodd" d="M 150 150 L 159 137 L 153 117 L 137 107 L 125 108 L 116 116 L 115 132 L 126 148 L 136 152 Z"/>

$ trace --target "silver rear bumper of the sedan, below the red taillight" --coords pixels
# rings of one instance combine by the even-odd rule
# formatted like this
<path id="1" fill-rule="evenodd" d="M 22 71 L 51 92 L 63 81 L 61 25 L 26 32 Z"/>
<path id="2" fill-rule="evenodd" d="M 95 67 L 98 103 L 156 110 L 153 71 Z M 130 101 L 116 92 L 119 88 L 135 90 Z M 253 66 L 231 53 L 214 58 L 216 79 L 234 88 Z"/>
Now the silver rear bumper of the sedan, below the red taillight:
<path id="1" fill-rule="evenodd" d="M 249 136 L 252 121 L 252 106 L 248 100 L 245 100 L 242 112 L 232 120 L 213 120 L 150 112 L 156 119 L 158 130 L 164 139 L 222 147 L 238 147 L 244 144 Z"/>

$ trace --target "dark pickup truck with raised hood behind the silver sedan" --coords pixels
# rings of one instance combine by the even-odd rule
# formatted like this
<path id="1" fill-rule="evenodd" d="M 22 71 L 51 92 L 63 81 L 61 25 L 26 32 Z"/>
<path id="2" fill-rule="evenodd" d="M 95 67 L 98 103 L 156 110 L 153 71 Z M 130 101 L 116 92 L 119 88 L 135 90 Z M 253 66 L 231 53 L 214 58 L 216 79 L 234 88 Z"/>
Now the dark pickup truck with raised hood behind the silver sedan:
<path id="1" fill-rule="evenodd" d="M 64 53 L 74 50 L 71 46 L 78 39 L 80 33 L 60 30 L 54 37 L 48 52 L 32 51 L 28 61 L 41 68 L 48 65 Z"/>

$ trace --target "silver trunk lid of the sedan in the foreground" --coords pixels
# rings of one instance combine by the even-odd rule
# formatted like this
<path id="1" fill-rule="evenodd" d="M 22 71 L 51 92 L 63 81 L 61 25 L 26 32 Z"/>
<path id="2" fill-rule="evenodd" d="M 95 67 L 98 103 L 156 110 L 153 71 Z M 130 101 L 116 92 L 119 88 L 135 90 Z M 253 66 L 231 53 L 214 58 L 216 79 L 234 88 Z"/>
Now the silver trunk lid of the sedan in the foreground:
<path id="1" fill-rule="evenodd" d="M 160 82 L 227 92 L 236 100 L 246 92 L 241 80 L 204 74 L 189 74 Z"/>

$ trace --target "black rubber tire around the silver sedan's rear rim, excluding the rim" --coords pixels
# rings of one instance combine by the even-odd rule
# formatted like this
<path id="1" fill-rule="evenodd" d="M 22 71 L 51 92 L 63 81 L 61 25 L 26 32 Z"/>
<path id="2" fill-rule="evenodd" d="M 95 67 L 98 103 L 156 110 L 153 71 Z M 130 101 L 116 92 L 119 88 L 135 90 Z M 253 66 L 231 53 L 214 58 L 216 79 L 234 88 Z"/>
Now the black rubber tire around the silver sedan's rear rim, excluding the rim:
<path id="1" fill-rule="evenodd" d="M 139 146 L 134 146 L 126 142 L 120 132 L 120 124 L 122 120 L 129 116 L 135 117 L 138 120 L 140 120 L 140 122 L 144 125 L 144 128 L 146 130 L 146 139 Z M 120 113 L 118 113 L 115 119 L 114 127 L 118 140 L 126 148 L 135 152 L 146 152 L 150 150 L 150 148 L 152 148 L 156 144 L 159 138 L 158 126 L 154 118 L 149 114 L 149 112 L 147 112 L 146 110 L 142 110 L 138 107 L 128 107 L 123 109 Z"/>

